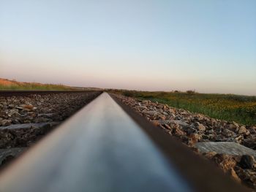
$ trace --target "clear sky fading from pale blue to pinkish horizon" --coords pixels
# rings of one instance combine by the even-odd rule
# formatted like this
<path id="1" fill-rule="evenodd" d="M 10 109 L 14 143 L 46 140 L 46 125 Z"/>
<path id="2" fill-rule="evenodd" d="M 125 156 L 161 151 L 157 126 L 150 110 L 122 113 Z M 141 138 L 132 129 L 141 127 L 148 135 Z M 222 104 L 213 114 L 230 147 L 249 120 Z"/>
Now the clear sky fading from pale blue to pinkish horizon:
<path id="1" fill-rule="evenodd" d="M 256 95 L 256 1 L 0 0 L 0 77 Z"/>

